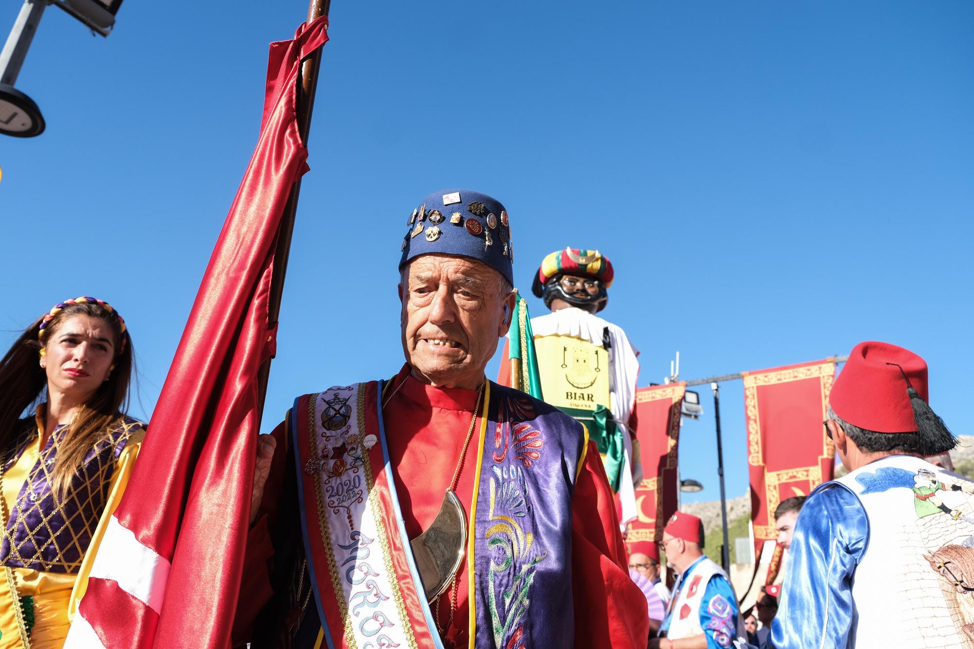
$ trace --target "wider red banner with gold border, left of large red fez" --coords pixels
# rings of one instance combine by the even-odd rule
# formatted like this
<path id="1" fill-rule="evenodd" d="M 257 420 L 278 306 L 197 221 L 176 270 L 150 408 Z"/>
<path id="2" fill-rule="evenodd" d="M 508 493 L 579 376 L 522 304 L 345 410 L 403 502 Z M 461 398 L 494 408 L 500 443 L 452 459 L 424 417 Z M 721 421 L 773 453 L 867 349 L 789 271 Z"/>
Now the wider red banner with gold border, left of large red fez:
<path id="1" fill-rule="evenodd" d="M 756 558 L 777 539 L 778 504 L 834 476 L 836 451 L 822 421 L 835 374 L 831 358 L 741 373 Z"/>

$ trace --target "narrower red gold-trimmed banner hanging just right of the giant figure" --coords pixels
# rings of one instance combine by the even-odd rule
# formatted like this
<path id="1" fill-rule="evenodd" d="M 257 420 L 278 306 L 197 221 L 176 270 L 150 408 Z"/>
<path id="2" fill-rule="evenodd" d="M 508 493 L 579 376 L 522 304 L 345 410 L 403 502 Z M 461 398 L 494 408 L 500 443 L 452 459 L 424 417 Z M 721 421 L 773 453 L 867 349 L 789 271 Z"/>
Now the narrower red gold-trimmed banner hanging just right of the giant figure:
<path id="1" fill-rule="evenodd" d="M 677 506 L 679 476 L 677 443 L 685 383 L 654 385 L 636 390 L 640 459 L 643 481 L 636 487 L 638 518 L 629 523 L 627 540 L 656 541 Z"/>

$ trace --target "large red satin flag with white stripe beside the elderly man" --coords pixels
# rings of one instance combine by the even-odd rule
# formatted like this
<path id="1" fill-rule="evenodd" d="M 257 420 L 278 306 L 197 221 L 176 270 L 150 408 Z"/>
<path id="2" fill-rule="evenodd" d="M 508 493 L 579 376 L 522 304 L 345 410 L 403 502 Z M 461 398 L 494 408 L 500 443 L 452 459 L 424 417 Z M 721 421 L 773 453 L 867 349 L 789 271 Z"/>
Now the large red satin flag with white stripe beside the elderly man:
<path id="1" fill-rule="evenodd" d="M 138 462 L 66 647 L 224 649 L 240 591 L 258 426 L 274 352 L 268 293 L 281 215 L 308 170 L 301 59 L 327 18 L 271 45 L 260 139 L 200 285 Z"/>

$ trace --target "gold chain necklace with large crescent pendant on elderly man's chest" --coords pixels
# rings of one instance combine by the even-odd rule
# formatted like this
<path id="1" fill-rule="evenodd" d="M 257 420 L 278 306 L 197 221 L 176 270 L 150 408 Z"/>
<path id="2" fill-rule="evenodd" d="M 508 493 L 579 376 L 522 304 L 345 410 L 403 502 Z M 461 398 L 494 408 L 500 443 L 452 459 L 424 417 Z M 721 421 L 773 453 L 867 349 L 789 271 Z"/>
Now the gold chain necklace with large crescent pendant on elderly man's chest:
<path id="1" fill-rule="evenodd" d="M 383 410 L 408 379 L 408 377 L 403 379 L 395 386 L 382 405 Z M 443 495 L 439 512 L 436 513 L 436 518 L 433 519 L 432 524 L 422 534 L 409 541 L 413 557 L 416 559 L 416 567 L 423 581 L 427 601 L 431 604 L 435 602 L 433 617 L 436 622 L 436 629 L 441 636 L 445 630 L 439 624 L 439 597 L 447 589 L 450 590 L 450 617 L 447 622 L 447 629 L 449 629 L 453 626 L 453 618 L 457 610 L 457 573 L 467 556 L 467 513 L 460 502 L 460 498 L 457 497 L 455 489 L 460 480 L 460 472 L 464 467 L 470 440 L 473 438 L 473 430 L 476 427 L 485 385 L 486 380 L 480 384 L 480 388 L 477 390 L 477 401 L 473 406 L 473 416 L 470 417 L 464 448 L 460 451 L 457 468 L 454 469 L 453 478 Z M 474 488 L 476 487 L 474 486 Z"/>

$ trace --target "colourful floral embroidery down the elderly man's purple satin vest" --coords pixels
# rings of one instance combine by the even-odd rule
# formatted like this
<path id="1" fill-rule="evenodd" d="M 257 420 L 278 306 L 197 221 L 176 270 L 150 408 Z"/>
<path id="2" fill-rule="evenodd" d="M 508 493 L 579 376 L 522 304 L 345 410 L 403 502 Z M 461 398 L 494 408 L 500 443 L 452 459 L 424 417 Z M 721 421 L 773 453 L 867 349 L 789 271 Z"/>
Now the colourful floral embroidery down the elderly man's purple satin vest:
<path id="1" fill-rule="evenodd" d="M 541 457 L 544 442 L 542 431 L 519 420 L 536 416 L 530 400 L 501 398 L 499 413 L 484 532 L 493 553 L 487 603 L 495 646 L 523 649 L 523 619 L 531 601 L 531 584 L 536 566 L 547 558 L 547 552 L 541 552 L 535 545 L 535 535 L 530 530 L 533 505 L 524 471 L 530 470 L 533 461 Z"/>

